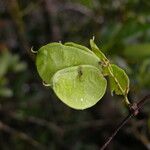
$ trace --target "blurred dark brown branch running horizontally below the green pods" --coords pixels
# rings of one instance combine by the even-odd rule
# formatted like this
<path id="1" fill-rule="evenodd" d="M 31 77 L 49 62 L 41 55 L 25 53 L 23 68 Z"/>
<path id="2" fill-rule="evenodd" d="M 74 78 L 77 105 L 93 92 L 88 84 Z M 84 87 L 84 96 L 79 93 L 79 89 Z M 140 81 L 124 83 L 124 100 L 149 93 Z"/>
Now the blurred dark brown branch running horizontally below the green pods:
<path id="1" fill-rule="evenodd" d="M 65 125 L 65 126 L 58 126 L 57 124 L 44 120 L 42 118 L 34 117 L 34 116 L 28 116 L 25 118 L 17 117 L 17 114 L 11 110 L 7 110 L 4 107 L 0 107 L 0 112 L 6 114 L 7 116 L 18 120 L 23 121 L 27 123 L 33 123 L 37 126 L 45 127 L 47 129 L 50 129 L 51 131 L 55 132 L 55 134 L 63 135 L 66 132 L 70 132 L 72 130 L 78 130 L 78 129 L 85 129 L 90 127 L 101 127 L 107 124 L 106 122 L 102 122 L 101 120 L 93 120 L 93 121 L 83 121 L 80 123 L 76 123 L 73 125 Z"/>

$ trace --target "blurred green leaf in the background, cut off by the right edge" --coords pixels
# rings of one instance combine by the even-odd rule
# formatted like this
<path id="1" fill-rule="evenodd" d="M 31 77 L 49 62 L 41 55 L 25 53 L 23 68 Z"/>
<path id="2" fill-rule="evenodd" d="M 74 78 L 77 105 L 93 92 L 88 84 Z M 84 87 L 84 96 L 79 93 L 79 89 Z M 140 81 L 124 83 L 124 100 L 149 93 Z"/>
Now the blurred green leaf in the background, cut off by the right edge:
<path id="1" fill-rule="evenodd" d="M 127 46 L 124 50 L 124 55 L 129 59 L 137 61 L 150 58 L 150 44 L 144 43 Z"/>

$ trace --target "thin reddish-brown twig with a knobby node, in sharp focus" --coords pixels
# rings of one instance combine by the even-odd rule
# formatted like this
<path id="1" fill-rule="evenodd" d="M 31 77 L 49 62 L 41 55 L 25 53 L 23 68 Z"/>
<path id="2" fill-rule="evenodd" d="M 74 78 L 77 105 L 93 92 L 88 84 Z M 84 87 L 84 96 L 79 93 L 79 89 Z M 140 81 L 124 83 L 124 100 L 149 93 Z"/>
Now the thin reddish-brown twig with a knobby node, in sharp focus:
<path id="1" fill-rule="evenodd" d="M 139 113 L 139 110 L 142 108 L 144 103 L 150 99 L 150 94 L 145 96 L 143 99 L 139 100 L 137 103 L 133 103 L 130 106 L 130 114 L 118 125 L 116 130 L 112 133 L 112 135 L 109 136 L 109 138 L 106 140 L 104 145 L 101 147 L 100 150 L 105 150 L 108 144 L 112 141 L 112 139 L 115 137 L 115 135 L 118 133 L 118 131 L 133 117 L 136 116 Z"/>

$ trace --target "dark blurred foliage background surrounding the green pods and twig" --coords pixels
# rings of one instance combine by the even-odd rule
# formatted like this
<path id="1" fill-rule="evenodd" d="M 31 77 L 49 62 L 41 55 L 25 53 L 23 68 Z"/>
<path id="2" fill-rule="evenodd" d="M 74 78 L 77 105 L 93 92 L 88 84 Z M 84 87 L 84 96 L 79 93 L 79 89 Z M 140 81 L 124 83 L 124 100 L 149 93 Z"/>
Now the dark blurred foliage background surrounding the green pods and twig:
<path id="1" fill-rule="evenodd" d="M 98 150 L 128 114 L 109 88 L 92 108 L 73 110 L 38 76 L 32 46 L 89 46 L 93 35 L 128 74 L 129 99 L 150 93 L 149 0 L 0 0 L 0 150 Z M 144 105 L 107 149 L 150 149 L 149 108 Z"/>

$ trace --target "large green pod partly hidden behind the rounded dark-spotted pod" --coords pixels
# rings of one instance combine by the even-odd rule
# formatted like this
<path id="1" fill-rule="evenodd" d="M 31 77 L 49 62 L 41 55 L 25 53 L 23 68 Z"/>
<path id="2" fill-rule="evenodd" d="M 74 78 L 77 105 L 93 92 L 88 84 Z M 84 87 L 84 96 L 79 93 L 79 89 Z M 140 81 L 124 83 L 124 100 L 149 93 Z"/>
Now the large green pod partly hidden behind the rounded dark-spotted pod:
<path id="1" fill-rule="evenodd" d="M 99 62 L 100 59 L 96 55 L 61 43 L 50 43 L 43 46 L 36 57 L 39 75 L 44 82 L 49 84 L 58 70 L 78 65 L 92 65 L 101 69 Z"/>

